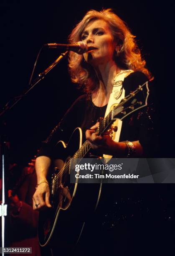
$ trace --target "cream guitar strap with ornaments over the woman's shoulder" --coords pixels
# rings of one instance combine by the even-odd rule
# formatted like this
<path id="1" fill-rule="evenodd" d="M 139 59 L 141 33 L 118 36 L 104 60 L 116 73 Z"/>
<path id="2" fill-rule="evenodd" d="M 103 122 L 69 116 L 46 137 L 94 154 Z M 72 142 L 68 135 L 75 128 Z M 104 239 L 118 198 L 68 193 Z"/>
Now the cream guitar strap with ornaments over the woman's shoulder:
<path id="1" fill-rule="evenodd" d="M 113 84 L 113 90 L 109 97 L 109 102 L 107 105 L 107 110 L 105 113 L 104 118 L 109 114 L 109 112 L 119 104 L 119 102 L 125 97 L 125 90 L 123 88 L 123 81 L 124 78 L 127 77 L 129 74 L 134 72 L 131 69 L 128 70 L 122 70 L 119 72 L 116 77 L 114 78 L 114 84 Z M 119 142 L 120 133 L 122 130 L 122 120 L 116 119 L 113 123 L 113 126 L 117 126 L 117 131 L 112 131 L 112 134 L 110 135 L 112 139 L 116 142 Z M 110 159 L 112 156 L 109 155 L 103 155 L 104 158 Z"/>

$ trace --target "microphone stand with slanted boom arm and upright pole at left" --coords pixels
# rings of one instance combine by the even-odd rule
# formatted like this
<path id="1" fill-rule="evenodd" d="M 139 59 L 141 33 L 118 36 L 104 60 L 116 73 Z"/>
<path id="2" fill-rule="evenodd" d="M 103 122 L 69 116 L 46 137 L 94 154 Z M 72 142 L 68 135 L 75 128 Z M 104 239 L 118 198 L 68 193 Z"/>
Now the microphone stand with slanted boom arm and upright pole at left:
<path id="1" fill-rule="evenodd" d="M 5 113 L 7 113 L 8 110 L 13 108 L 23 97 L 25 97 L 30 90 L 32 90 L 36 84 L 38 84 L 48 72 L 51 71 L 60 61 L 63 59 L 66 55 L 68 54 L 68 51 L 62 53 L 47 69 L 45 69 L 43 72 L 38 74 L 38 77 L 34 80 L 33 83 L 29 84 L 28 89 L 20 96 L 14 97 L 13 100 L 8 101 L 5 106 L 3 107 L 3 110 L 0 112 L 0 117 L 3 117 Z M 3 122 L 3 125 L 5 122 Z M 8 143 L 5 140 L 5 136 L 1 136 L 1 141 L 0 141 L 0 157 L 2 161 L 2 204 L 0 205 L 0 217 L 2 219 L 2 247 L 5 247 L 5 216 L 7 216 L 7 208 L 8 205 L 5 203 L 5 169 L 7 168 L 7 163 L 6 163 L 6 150 L 7 150 Z M 3 253 L 3 248 L 2 248 L 2 254 Z"/>

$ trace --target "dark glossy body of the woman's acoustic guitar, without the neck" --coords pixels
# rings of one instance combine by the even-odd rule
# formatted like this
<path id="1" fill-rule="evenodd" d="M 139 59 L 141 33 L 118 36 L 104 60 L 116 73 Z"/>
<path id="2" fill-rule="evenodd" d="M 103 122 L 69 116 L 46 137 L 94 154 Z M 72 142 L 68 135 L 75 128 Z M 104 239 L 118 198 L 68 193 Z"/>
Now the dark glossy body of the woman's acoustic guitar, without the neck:
<path id="1" fill-rule="evenodd" d="M 81 128 L 76 128 L 68 145 L 59 141 L 56 151 L 61 159 L 54 165 L 58 168 L 58 179 L 51 182 L 51 208 L 40 211 L 38 238 L 41 246 L 51 244 L 60 251 L 71 251 L 94 212 L 101 193 L 101 184 L 70 184 L 70 169 L 67 163 L 82 145 Z M 72 170 L 74 172 L 74 170 Z M 53 181 L 53 179 L 52 179 Z"/>

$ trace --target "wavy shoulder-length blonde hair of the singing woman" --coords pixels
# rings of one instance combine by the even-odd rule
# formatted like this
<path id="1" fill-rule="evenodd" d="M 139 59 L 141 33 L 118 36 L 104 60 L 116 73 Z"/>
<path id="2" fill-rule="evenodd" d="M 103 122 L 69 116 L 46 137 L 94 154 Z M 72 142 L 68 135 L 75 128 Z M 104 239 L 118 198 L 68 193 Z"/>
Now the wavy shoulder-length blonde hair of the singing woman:
<path id="1" fill-rule="evenodd" d="M 81 34 L 84 28 L 92 20 L 104 20 L 112 31 L 114 41 L 120 46 L 119 54 L 114 55 L 116 64 L 121 69 L 132 69 L 141 71 L 149 79 L 151 74 L 145 67 L 146 61 L 142 59 L 140 50 L 134 40 L 135 36 L 129 31 L 127 25 L 121 20 L 112 9 L 104 9 L 99 11 L 89 10 L 84 18 L 76 25 L 68 37 L 70 44 L 81 41 Z M 99 84 L 93 67 L 84 61 L 83 55 L 74 52 L 69 53 L 68 69 L 71 75 L 71 81 L 78 83 L 79 87 L 83 87 L 84 92 L 91 93 Z"/>

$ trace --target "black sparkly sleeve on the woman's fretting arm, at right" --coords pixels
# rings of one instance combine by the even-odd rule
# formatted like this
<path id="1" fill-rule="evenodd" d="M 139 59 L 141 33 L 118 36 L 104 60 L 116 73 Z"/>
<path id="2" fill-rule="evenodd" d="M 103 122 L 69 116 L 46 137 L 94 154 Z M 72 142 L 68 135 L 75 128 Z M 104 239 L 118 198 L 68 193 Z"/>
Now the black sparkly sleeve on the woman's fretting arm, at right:
<path id="1" fill-rule="evenodd" d="M 123 82 L 125 95 L 129 95 L 131 91 L 136 90 L 139 85 L 147 81 L 148 78 L 142 72 L 131 73 Z M 152 86 L 152 82 L 149 82 L 149 89 Z M 150 93 L 148 105 L 129 115 L 122 123 L 120 141 L 139 141 L 144 150 L 144 157 L 155 157 L 158 148 L 158 134 L 155 127 L 156 113 L 153 103 Z"/>

